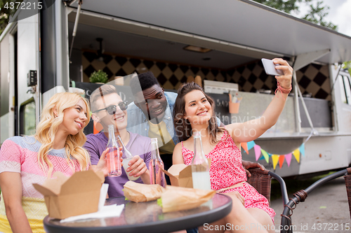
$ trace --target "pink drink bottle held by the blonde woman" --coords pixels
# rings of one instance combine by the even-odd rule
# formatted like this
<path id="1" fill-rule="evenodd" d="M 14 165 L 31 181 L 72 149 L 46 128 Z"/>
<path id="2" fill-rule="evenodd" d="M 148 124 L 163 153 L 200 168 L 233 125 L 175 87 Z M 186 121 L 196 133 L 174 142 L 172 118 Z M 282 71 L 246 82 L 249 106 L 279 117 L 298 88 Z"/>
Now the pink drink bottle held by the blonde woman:
<path id="1" fill-rule="evenodd" d="M 121 176 L 121 160 L 119 160 L 119 145 L 117 144 L 116 137 L 114 136 L 114 125 L 109 125 L 109 141 L 106 148 L 109 148 L 107 153 L 107 168 L 109 169 L 108 176 L 116 177 Z"/>

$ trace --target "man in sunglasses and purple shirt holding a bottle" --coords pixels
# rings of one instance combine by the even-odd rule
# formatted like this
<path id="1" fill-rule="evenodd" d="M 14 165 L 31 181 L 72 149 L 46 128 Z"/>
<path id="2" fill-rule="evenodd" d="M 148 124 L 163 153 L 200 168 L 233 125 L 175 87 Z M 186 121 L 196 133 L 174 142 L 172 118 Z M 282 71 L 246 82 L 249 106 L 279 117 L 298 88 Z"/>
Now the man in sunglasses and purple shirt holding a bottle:
<path id="1" fill-rule="evenodd" d="M 146 136 L 133 134 L 128 132 L 127 127 L 127 108 L 128 103 L 122 101 L 119 94 L 113 85 L 102 85 L 95 90 L 90 97 L 91 118 L 95 122 L 100 122 L 104 128 L 98 134 L 88 134 L 84 148 L 88 150 L 91 156 L 91 167 L 96 166 L 100 159 L 100 155 L 106 149 L 108 141 L 108 125 L 114 125 L 117 129 L 116 135 L 121 137 L 127 150 L 134 156 L 128 163 L 127 171 L 131 171 L 131 176 L 140 176 L 135 182 L 150 183 L 150 174 L 147 169 L 151 159 L 151 141 Z M 123 151 L 124 153 L 124 151 Z M 119 177 L 105 178 L 105 183 L 108 183 L 109 197 L 123 196 L 123 185 L 128 181 L 128 176 L 124 169 Z"/>

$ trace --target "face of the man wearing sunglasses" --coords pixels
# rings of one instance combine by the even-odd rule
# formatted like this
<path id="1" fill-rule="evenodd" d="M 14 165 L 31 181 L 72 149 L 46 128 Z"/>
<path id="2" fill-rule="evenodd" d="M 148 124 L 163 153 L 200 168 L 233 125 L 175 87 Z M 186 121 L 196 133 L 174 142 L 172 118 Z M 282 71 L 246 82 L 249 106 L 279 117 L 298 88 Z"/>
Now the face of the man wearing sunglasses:
<path id="1" fill-rule="evenodd" d="M 107 113 L 107 110 L 93 113 L 93 119 L 101 123 L 102 127 L 104 127 L 105 132 L 108 132 L 108 125 L 111 124 L 113 124 L 119 131 L 126 129 L 127 111 L 121 111 L 121 108 L 119 107 L 119 104 L 122 102 L 123 100 L 117 93 L 104 95 L 104 100 L 102 100 L 102 98 L 95 100 L 95 106 L 97 106 L 97 109 L 108 108 L 109 106 L 117 106 L 116 112 L 113 115 Z"/>

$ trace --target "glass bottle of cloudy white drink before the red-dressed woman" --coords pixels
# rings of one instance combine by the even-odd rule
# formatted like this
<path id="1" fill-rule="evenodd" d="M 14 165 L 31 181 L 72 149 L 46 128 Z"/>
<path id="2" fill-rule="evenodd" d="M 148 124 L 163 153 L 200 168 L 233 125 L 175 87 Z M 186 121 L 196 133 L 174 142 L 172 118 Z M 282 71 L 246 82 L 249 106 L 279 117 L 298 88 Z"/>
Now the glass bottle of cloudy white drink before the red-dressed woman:
<path id="1" fill-rule="evenodd" d="M 194 157 L 192 157 L 192 187 L 211 190 L 210 167 L 202 148 L 201 134 L 194 132 Z"/>

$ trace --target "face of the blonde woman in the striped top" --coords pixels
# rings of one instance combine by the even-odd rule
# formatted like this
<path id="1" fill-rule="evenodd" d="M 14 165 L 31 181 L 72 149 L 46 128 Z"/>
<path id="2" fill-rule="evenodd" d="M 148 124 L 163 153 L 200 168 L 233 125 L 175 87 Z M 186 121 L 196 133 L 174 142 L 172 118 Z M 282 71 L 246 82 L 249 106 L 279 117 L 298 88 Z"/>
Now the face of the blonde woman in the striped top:
<path id="1" fill-rule="evenodd" d="M 72 106 L 72 108 L 65 109 L 63 114 L 63 120 L 58 129 L 65 132 L 67 135 L 78 134 L 78 132 L 84 129 L 88 124 L 86 104 L 82 99 L 80 99 L 76 105 Z"/>

